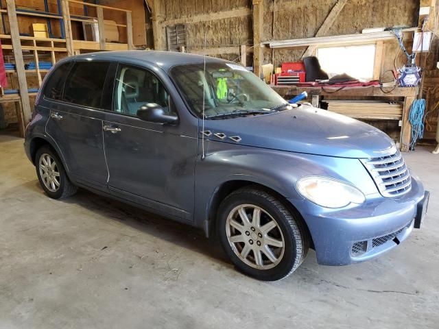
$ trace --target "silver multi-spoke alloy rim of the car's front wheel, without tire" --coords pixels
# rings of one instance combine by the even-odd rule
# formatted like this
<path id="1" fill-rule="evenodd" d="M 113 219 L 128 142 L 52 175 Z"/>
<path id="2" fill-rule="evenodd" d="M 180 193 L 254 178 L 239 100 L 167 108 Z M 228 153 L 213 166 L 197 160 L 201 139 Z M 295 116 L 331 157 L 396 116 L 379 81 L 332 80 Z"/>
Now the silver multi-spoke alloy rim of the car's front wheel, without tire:
<path id="1" fill-rule="evenodd" d="M 230 247 L 244 263 L 255 269 L 271 269 L 281 262 L 285 240 L 276 220 L 263 208 L 241 204 L 226 220 Z"/>

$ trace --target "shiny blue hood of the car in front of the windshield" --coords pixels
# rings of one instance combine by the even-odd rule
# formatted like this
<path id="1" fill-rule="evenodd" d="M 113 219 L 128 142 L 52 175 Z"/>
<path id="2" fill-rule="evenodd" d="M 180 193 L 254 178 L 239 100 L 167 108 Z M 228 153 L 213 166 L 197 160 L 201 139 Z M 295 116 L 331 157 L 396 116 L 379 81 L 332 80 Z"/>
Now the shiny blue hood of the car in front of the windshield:
<path id="1" fill-rule="evenodd" d="M 306 105 L 254 117 L 206 120 L 204 132 L 212 141 L 322 156 L 375 158 L 396 151 L 381 130 Z"/>

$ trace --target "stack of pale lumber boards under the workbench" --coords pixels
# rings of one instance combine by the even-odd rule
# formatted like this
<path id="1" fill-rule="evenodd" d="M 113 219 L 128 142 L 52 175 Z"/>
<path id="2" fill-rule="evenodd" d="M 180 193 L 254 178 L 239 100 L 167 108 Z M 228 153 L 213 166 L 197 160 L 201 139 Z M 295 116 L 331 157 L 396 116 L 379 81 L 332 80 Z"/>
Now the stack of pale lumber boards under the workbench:
<path id="1" fill-rule="evenodd" d="M 355 119 L 401 120 L 403 103 L 387 103 L 383 101 L 343 101 L 324 100 L 328 110 Z"/>

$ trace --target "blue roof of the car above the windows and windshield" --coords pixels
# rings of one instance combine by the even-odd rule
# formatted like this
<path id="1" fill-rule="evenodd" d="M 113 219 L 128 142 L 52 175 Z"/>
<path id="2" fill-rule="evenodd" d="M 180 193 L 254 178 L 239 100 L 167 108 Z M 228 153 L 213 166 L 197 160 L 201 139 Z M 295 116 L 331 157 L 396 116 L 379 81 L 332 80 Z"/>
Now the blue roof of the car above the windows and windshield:
<path id="1" fill-rule="evenodd" d="M 153 51 L 153 50 L 127 50 L 127 51 L 101 51 L 96 53 L 84 53 L 78 56 L 71 56 L 69 60 L 109 60 L 124 62 L 149 62 L 169 71 L 172 66 L 180 64 L 200 64 L 204 62 L 228 62 L 220 58 L 195 55 L 193 53 L 178 53 L 176 51 Z"/>

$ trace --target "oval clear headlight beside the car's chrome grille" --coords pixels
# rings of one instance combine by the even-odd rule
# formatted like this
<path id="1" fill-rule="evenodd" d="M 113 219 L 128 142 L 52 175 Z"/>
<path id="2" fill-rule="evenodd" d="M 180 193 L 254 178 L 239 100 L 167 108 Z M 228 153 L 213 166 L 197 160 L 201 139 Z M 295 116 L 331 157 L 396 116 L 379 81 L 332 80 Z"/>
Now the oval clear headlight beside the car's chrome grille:
<path id="1" fill-rule="evenodd" d="M 326 208 L 362 204 L 364 194 L 352 185 L 328 177 L 308 176 L 296 183 L 297 191 L 309 201 Z"/>

